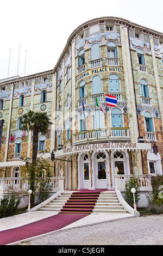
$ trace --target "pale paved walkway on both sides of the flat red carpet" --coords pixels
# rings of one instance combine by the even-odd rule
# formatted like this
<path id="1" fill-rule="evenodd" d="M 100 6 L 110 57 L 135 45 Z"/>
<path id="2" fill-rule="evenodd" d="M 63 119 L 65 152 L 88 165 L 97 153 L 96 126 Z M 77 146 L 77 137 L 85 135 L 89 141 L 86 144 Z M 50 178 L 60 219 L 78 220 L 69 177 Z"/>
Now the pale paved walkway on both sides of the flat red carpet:
<path id="1" fill-rule="evenodd" d="M 10 230 L 11 232 L 8 232 L 8 236 L 9 236 L 11 233 L 13 233 L 13 230 L 15 228 L 23 227 L 23 226 L 24 226 L 24 228 L 26 228 L 28 230 L 28 225 L 31 225 L 32 223 L 33 223 L 33 225 L 37 224 L 41 220 L 42 220 L 42 223 L 43 223 L 43 220 L 45 222 L 47 222 L 53 216 L 55 216 L 55 215 L 52 212 L 35 211 L 35 212 L 27 212 L 27 213 L 20 214 L 20 215 L 2 218 L 2 219 L 0 219 L 0 235 L 3 235 L 3 233 L 5 234 L 5 232 L 7 232 L 11 229 Z M 66 216 L 68 216 L 68 215 L 66 215 Z M 57 217 L 57 215 L 56 215 L 56 217 Z M 72 221 L 72 223 L 70 222 L 70 224 L 65 225 L 64 227 L 62 227 L 58 230 L 71 229 L 74 227 L 82 227 L 82 226 L 86 226 L 89 224 L 102 223 L 105 221 L 121 220 L 122 218 L 129 218 L 129 217 L 134 217 L 134 216 L 131 214 L 91 214 L 91 215 L 82 217 L 77 221 Z M 39 236 L 53 233 L 54 231 L 56 231 L 55 228 L 54 228 L 54 230 L 51 229 L 51 231 L 49 231 L 49 233 L 47 231 L 45 233 L 44 230 L 45 229 L 42 228 L 42 231 L 40 231 Z M 15 229 L 15 231 L 16 231 L 16 229 Z M 14 245 L 14 244 L 16 245 L 22 241 L 28 241 L 28 240 L 33 239 L 34 237 L 39 237 L 39 236 L 32 236 L 30 238 L 28 237 L 27 239 L 23 239 L 23 237 L 22 237 L 22 239 L 19 239 L 18 241 L 13 240 L 12 242 L 10 241 L 10 243 L 7 243 L 7 244 L 8 245 Z"/>

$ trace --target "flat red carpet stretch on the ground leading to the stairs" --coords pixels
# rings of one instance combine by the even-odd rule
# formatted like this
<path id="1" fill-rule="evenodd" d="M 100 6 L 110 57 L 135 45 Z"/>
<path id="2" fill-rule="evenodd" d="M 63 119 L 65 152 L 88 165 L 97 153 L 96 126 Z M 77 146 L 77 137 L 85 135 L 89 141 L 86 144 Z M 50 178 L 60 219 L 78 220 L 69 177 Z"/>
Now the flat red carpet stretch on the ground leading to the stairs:
<path id="1" fill-rule="evenodd" d="M 75 221 L 84 218 L 87 215 L 54 215 L 41 221 L 24 225 L 20 228 L 13 228 L 0 231 L 0 245 L 8 245 L 9 243 L 28 239 L 33 236 L 46 234 L 51 231 L 66 227 Z"/>

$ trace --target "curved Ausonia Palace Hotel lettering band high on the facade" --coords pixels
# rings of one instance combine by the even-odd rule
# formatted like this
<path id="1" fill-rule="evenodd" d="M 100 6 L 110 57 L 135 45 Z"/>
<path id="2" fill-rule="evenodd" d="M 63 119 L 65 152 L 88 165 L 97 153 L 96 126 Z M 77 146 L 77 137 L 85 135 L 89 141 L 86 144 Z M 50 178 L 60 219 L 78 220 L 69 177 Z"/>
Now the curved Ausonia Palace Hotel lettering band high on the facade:
<path id="1" fill-rule="evenodd" d="M 117 67 L 117 66 L 105 66 L 103 68 L 97 68 L 97 69 L 91 69 L 86 72 L 83 72 L 79 76 L 76 77 L 76 82 L 81 80 L 82 78 L 90 75 L 100 74 L 103 72 L 123 72 L 123 68 Z"/>

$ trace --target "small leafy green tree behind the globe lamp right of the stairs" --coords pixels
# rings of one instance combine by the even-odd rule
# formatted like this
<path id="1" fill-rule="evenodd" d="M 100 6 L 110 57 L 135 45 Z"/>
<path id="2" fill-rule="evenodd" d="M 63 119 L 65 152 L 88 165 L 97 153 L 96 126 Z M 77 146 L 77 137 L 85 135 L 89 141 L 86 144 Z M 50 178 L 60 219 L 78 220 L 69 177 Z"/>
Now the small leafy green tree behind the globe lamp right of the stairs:
<path id="1" fill-rule="evenodd" d="M 134 207 L 134 197 L 133 197 L 133 193 L 131 192 L 131 188 L 133 188 L 133 187 L 136 190 L 135 203 L 137 204 L 140 200 L 140 198 L 139 198 L 140 185 L 137 184 L 137 179 L 135 178 L 134 174 L 129 180 L 126 181 L 125 191 L 124 191 L 124 193 L 125 193 L 124 199 L 131 207 Z"/>

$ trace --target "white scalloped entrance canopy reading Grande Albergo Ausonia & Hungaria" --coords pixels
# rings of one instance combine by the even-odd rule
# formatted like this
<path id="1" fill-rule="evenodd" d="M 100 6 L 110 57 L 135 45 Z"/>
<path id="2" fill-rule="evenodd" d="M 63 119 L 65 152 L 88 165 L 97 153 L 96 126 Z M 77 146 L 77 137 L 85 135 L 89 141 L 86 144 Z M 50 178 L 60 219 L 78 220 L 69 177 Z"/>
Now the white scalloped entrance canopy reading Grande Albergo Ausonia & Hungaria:
<path id="1" fill-rule="evenodd" d="M 70 148 L 55 151 L 55 157 L 67 156 L 77 153 L 88 153 L 93 151 L 102 150 L 151 150 L 151 143 L 131 143 L 131 142 L 120 142 L 120 143 L 98 143 L 98 144 L 86 144 L 78 145 Z"/>

